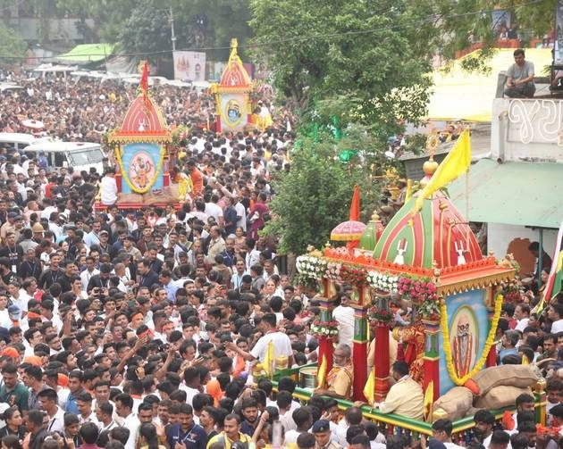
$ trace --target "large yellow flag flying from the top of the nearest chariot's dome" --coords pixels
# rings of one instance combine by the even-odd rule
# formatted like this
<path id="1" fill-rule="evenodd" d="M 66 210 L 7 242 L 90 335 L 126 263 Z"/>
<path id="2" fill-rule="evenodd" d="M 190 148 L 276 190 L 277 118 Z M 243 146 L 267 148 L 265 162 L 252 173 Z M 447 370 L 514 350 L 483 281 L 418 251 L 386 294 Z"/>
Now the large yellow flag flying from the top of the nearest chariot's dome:
<path id="1" fill-rule="evenodd" d="M 436 190 L 448 185 L 451 181 L 458 178 L 459 175 L 469 170 L 471 164 L 471 138 L 469 137 L 469 129 L 465 129 L 458 137 L 456 145 L 451 149 L 450 154 L 441 162 L 438 170 L 428 181 L 426 187 L 420 192 L 416 198 L 414 212 L 420 211 L 424 198 L 432 195 Z"/>

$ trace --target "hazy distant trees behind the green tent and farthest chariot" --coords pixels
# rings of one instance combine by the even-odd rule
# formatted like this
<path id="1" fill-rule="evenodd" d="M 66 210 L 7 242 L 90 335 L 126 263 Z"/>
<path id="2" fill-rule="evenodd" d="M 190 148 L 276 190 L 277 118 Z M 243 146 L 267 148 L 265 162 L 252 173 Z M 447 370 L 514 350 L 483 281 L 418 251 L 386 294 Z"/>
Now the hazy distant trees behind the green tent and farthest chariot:
<path id="1" fill-rule="evenodd" d="M 77 15 L 82 28 L 87 27 L 85 18 L 94 19 L 96 25 L 88 33 L 105 42 L 121 41 L 123 49 L 132 53 L 172 49 L 171 7 L 179 50 L 228 47 L 231 37 L 238 37 L 242 46 L 252 35 L 248 0 L 56 0 L 56 6 Z M 206 25 L 196 30 L 197 16 L 204 16 Z M 193 38 L 196 32 L 201 33 L 201 39 Z M 244 49 L 239 53 L 244 54 Z M 228 55 L 228 48 L 207 52 L 209 60 L 226 60 Z"/>

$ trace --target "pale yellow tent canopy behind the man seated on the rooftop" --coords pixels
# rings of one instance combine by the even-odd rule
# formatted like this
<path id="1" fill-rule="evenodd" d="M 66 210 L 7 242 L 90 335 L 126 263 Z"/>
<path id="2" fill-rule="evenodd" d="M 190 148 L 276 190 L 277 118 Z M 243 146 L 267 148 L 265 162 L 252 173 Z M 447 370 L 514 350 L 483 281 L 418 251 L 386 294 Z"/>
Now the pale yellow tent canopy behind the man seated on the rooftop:
<path id="1" fill-rule="evenodd" d="M 500 71 L 508 71 L 514 63 L 514 48 L 500 48 L 489 62 L 491 74 L 467 73 L 461 69 L 464 58 L 478 55 L 475 50 L 453 63 L 450 71 L 433 72 L 433 94 L 428 104 L 430 120 L 491 121 L 492 99 L 496 95 Z M 551 65 L 550 48 L 525 49 L 526 61 L 534 62 L 535 76 Z"/>

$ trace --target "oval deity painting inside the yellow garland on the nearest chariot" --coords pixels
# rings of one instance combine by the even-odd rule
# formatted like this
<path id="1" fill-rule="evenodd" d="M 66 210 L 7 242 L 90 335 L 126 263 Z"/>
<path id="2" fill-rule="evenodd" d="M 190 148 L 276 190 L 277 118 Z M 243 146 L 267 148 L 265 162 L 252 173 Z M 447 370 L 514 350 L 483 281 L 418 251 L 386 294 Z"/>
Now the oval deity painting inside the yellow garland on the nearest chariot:
<path id="1" fill-rule="evenodd" d="M 475 365 L 479 341 L 475 313 L 469 307 L 460 307 L 450 328 L 451 358 L 459 378 L 463 378 Z"/>

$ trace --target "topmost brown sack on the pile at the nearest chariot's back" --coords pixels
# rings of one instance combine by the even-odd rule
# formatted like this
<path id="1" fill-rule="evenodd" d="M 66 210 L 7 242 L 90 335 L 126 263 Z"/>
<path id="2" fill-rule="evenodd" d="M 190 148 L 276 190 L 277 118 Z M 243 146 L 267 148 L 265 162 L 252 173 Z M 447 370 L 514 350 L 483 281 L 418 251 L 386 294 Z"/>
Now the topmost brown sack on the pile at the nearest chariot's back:
<path id="1" fill-rule="evenodd" d="M 538 381 L 533 365 L 500 365 L 479 371 L 473 377 L 481 391 L 486 395 L 494 387 L 506 385 L 510 387 L 533 387 Z"/>

